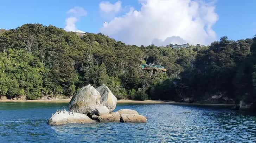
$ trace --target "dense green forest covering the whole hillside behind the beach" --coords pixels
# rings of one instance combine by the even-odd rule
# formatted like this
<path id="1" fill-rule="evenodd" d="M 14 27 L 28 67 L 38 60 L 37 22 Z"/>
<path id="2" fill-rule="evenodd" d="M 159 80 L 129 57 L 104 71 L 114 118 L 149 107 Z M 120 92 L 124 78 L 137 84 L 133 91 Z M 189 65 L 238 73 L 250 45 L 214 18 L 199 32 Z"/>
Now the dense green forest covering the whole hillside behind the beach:
<path id="1" fill-rule="evenodd" d="M 256 37 L 222 37 L 180 50 L 171 45 L 137 47 L 101 33 L 79 37 L 41 24 L 1 29 L 0 96 L 72 96 L 85 85 L 105 84 L 118 99 L 256 100 Z M 145 63 L 163 65 L 167 73 L 149 77 L 140 66 Z"/>

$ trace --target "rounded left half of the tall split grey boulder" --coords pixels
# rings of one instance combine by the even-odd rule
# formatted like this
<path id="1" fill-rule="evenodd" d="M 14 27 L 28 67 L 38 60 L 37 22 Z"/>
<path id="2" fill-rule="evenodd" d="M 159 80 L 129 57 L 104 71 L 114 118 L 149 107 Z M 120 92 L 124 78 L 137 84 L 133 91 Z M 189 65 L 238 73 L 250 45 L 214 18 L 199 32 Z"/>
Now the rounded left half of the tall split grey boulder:
<path id="1" fill-rule="evenodd" d="M 70 100 L 69 110 L 73 112 L 88 114 L 101 105 L 100 93 L 91 85 L 81 88 Z"/>

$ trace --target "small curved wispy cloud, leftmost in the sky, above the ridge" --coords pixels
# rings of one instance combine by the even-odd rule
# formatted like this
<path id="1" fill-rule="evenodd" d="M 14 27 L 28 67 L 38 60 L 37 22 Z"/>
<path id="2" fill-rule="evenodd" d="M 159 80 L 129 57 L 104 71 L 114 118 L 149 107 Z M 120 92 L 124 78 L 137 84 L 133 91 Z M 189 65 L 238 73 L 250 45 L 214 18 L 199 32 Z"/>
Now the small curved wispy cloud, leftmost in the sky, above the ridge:
<path id="1" fill-rule="evenodd" d="M 66 31 L 76 31 L 76 22 L 80 19 L 80 17 L 86 16 L 87 12 L 82 7 L 73 7 L 67 12 L 67 14 L 69 14 L 70 17 L 66 18 L 66 26 L 64 29 Z"/>

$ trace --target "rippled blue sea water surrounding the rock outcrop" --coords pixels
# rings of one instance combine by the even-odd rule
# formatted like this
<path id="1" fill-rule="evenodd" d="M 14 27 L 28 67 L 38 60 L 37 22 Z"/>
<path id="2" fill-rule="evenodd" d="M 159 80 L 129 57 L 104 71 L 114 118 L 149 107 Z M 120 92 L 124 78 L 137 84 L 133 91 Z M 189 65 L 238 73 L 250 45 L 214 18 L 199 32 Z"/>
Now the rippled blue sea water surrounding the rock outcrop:
<path id="1" fill-rule="evenodd" d="M 49 126 L 56 109 L 68 103 L 0 102 L 0 143 L 255 143 L 256 116 L 224 108 L 118 104 L 148 123 L 96 123 Z"/>

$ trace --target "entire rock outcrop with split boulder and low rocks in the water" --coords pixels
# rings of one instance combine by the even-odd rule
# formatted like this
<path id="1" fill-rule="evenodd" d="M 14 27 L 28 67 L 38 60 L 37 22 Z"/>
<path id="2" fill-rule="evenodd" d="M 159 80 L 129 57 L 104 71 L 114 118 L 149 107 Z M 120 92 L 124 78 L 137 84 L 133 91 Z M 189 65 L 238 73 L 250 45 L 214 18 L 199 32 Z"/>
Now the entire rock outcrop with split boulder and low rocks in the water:
<path id="1" fill-rule="evenodd" d="M 135 110 L 116 108 L 116 97 L 107 86 L 100 86 L 97 90 L 91 86 L 81 88 L 70 100 L 69 111 L 65 109 L 51 116 L 48 124 L 59 126 L 67 123 L 96 123 L 97 122 L 124 122 L 145 123 L 145 116 L 139 115 Z"/>

